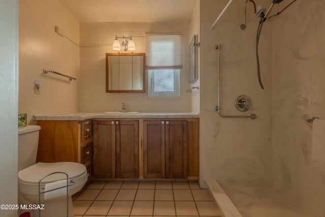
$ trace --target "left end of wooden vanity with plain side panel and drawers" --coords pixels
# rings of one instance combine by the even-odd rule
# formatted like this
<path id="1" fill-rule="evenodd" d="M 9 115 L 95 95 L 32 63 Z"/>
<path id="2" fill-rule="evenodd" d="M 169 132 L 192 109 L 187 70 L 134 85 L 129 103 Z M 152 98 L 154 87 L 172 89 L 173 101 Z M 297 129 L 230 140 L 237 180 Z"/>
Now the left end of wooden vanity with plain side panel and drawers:
<path id="1" fill-rule="evenodd" d="M 41 127 L 37 162 L 77 162 L 84 164 L 91 178 L 91 120 L 38 120 Z"/>

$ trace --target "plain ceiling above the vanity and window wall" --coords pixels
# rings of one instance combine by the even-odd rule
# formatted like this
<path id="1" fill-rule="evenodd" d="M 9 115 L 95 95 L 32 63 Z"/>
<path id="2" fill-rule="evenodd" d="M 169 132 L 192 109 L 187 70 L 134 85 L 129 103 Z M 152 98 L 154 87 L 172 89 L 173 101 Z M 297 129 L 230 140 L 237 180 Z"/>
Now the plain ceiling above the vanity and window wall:
<path id="1" fill-rule="evenodd" d="M 59 0 L 80 22 L 190 20 L 198 0 Z"/>

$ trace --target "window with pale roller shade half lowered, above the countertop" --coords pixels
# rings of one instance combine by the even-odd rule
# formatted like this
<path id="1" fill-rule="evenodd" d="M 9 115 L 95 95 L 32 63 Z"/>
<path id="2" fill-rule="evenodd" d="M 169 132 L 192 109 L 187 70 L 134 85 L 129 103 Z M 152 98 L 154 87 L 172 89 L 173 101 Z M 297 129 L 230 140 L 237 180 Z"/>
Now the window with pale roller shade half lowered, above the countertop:
<path id="1" fill-rule="evenodd" d="M 147 34 L 146 49 L 149 96 L 179 96 L 182 36 Z"/>

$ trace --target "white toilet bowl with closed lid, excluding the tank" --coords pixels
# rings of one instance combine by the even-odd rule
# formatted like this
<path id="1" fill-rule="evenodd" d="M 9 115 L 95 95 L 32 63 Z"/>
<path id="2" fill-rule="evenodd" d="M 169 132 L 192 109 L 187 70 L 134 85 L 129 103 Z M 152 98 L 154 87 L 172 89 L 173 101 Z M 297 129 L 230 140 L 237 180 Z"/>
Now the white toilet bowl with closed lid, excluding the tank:
<path id="1" fill-rule="evenodd" d="M 18 200 L 20 204 L 26 207 L 29 204 L 39 204 L 39 181 L 44 176 L 64 171 L 68 174 L 69 182 L 69 194 L 67 203 L 67 188 L 66 188 L 66 175 L 61 173 L 55 173 L 44 178 L 40 184 L 41 188 L 41 201 L 40 207 L 37 207 L 31 216 L 39 216 L 39 210 L 41 210 L 41 216 L 68 216 L 73 215 L 73 204 L 71 196 L 82 189 L 83 185 L 87 181 L 86 167 L 79 163 L 74 162 L 59 162 L 59 163 L 37 163 L 26 169 L 18 172 Z M 57 188 L 65 187 L 62 189 L 54 190 L 47 193 L 42 193 L 46 190 L 47 185 L 58 184 Z M 53 189 L 53 188 L 52 188 Z M 44 206 L 43 206 L 44 204 Z M 43 209 L 42 209 L 43 208 Z M 26 209 L 28 210 L 28 209 Z"/>

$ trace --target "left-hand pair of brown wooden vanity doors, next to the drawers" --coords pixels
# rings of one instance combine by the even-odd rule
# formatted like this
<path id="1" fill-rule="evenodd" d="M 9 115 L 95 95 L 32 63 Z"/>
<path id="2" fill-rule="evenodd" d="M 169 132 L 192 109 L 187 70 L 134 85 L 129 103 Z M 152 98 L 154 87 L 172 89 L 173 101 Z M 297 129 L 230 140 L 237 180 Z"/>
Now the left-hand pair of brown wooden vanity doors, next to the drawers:
<path id="1" fill-rule="evenodd" d="M 93 179 L 139 177 L 139 121 L 93 120 Z"/>

